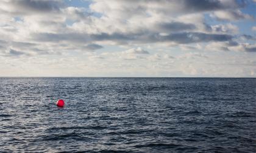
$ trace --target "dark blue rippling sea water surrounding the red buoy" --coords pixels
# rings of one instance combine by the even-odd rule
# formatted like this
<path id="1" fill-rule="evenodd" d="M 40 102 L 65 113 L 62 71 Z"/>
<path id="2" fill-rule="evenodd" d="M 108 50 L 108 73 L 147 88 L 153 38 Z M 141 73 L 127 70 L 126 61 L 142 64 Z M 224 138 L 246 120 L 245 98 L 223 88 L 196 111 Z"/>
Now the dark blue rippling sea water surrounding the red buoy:
<path id="1" fill-rule="evenodd" d="M 0 135 L 1 152 L 256 152 L 256 79 L 0 78 Z"/>

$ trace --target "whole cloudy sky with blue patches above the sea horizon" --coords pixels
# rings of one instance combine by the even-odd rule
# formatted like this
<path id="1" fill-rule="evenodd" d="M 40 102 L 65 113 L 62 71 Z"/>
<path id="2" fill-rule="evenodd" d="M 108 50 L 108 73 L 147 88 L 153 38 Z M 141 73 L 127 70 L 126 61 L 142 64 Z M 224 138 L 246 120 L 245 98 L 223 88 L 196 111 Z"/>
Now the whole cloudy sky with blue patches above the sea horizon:
<path id="1" fill-rule="evenodd" d="M 2 0 L 0 77 L 256 77 L 256 0 Z"/>

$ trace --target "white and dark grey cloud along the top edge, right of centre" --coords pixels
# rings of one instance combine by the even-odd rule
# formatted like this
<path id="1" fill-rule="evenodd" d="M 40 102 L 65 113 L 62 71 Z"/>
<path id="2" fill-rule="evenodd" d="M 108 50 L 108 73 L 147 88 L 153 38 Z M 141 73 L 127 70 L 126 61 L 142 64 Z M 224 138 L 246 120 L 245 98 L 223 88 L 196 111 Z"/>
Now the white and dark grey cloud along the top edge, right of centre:
<path id="1" fill-rule="evenodd" d="M 111 5 L 115 4 L 115 5 Z M 172 0 L 172 1 L 125 1 L 125 0 L 110 0 L 100 1 L 96 0 L 90 9 L 102 13 L 108 17 L 119 18 L 120 16 L 127 17 L 131 15 L 148 15 L 152 13 L 166 13 L 168 15 L 177 15 L 180 13 L 195 13 L 207 12 L 221 9 L 235 9 L 242 7 L 244 3 L 239 4 L 235 0 L 219 1 L 219 0 Z M 146 14 L 145 14 L 146 15 Z"/>

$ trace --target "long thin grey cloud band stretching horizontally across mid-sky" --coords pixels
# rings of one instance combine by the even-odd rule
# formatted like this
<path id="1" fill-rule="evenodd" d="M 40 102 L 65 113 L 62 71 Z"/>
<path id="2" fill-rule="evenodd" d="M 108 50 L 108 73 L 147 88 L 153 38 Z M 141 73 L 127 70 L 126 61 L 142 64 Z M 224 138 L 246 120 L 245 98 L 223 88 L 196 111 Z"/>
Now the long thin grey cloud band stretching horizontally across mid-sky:
<path id="1" fill-rule="evenodd" d="M 224 34 L 208 34 L 198 32 L 182 32 L 171 33 L 166 36 L 161 36 L 158 33 L 99 33 L 99 34 L 83 34 L 83 33 L 34 33 L 32 34 L 37 41 L 60 42 L 69 41 L 77 43 L 88 43 L 91 41 L 115 41 L 119 44 L 134 43 L 149 43 L 149 42 L 177 42 L 181 44 L 189 44 L 194 42 L 208 41 L 230 41 L 232 35 Z"/>

